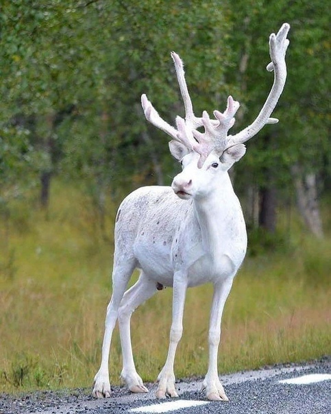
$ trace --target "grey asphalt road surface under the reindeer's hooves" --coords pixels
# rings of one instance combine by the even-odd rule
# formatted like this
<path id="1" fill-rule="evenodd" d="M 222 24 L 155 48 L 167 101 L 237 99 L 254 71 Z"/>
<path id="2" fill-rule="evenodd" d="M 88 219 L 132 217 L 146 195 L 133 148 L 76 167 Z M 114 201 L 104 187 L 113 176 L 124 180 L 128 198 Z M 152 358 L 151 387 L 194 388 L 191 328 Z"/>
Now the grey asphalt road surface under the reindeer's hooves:
<path id="1" fill-rule="evenodd" d="M 204 393 L 199 392 L 201 380 L 185 380 L 177 383 L 180 398 L 166 401 L 156 400 L 156 385 L 149 385 L 147 394 L 132 394 L 125 387 L 114 387 L 112 397 L 104 400 L 90 397 L 90 390 L 45 391 L 20 398 L 0 395 L 0 413 L 131 414 L 149 409 L 151 413 L 169 414 L 331 414 L 331 379 L 299 385 L 280 382 L 302 376 L 309 380 L 311 374 L 329 374 L 331 378 L 331 358 L 221 376 L 229 402 L 208 402 Z M 169 402 L 171 411 L 164 411 Z M 194 402 L 204 404 L 179 408 Z"/>

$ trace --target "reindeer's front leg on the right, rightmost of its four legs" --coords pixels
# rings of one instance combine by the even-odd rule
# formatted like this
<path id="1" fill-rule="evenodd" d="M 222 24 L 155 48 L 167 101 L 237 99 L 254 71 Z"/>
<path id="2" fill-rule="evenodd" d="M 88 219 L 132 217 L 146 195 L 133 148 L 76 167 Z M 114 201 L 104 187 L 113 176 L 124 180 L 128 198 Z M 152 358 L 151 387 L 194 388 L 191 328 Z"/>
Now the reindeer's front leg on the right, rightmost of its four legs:
<path id="1" fill-rule="evenodd" d="M 228 401 L 223 386 L 219 380 L 217 369 L 217 354 L 219 350 L 219 341 L 221 338 L 221 318 L 225 301 L 228 298 L 232 287 L 232 278 L 222 280 L 214 285 L 214 294 L 212 297 L 212 309 L 210 313 L 209 327 L 209 365 L 208 372 L 203 382 L 203 389 L 206 390 L 208 400 Z"/>

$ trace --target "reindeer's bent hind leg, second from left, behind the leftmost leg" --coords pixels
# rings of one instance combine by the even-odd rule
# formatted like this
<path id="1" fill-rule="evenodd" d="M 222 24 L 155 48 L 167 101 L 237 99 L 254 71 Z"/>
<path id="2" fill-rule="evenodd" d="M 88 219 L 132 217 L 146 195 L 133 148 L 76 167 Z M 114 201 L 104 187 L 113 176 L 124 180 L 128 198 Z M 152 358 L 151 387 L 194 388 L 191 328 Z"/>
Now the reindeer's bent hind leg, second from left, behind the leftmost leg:
<path id="1" fill-rule="evenodd" d="M 123 354 L 122 380 L 127 384 L 130 391 L 134 393 L 146 393 L 148 389 L 143 385 L 143 380 L 136 372 L 134 357 L 132 354 L 130 319 L 134 310 L 145 300 L 156 293 L 156 282 L 145 276 L 143 271 L 136 284 L 125 292 L 119 308 L 119 331 L 121 335 L 121 346 Z"/>

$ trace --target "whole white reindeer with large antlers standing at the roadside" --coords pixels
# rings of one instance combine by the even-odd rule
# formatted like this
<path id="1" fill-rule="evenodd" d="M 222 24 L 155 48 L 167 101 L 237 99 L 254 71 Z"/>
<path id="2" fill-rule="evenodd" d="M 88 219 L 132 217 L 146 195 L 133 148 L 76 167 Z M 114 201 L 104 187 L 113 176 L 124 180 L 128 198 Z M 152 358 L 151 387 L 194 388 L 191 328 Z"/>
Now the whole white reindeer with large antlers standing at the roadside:
<path id="1" fill-rule="evenodd" d="M 208 334 L 209 365 L 203 387 L 208 400 L 228 400 L 217 371 L 221 316 L 247 246 L 243 212 L 228 170 L 245 154 L 245 141 L 265 124 L 278 121 L 269 117 L 286 80 L 288 32 L 289 24 L 284 23 L 277 35 L 271 34 L 271 63 L 267 66 L 268 71 L 274 71 L 271 92 L 252 125 L 236 135 L 228 135 L 239 107 L 232 97 L 228 97 L 225 112 L 214 111 L 215 119 L 210 119 L 206 111 L 201 118 L 195 117 L 183 64 L 176 53 L 171 56 L 185 106 L 185 119 L 177 117 L 177 129 L 163 121 L 146 95 L 142 96 L 147 120 L 173 138 L 169 148 L 183 169 L 171 187 L 139 188 L 123 200 L 117 212 L 113 291 L 107 308 L 101 367 L 95 376 L 95 397 L 110 396 L 108 358 L 117 319 L 123 352 L 121 378 L 132 392 L 147 392 L 134 365 L 130 318 L 138 305 L 163 286 L 173 287 L 173 319 L 169 352 L 158 376 L 156 397 L 177 397 L 173 365 L 182 337 L 186 289 L 211 282 L 214 294 Z M 204 133 L 197 131 L 201 126 Z M 140 277 L 125 292 L 135 268 L 140 269 Z"/>

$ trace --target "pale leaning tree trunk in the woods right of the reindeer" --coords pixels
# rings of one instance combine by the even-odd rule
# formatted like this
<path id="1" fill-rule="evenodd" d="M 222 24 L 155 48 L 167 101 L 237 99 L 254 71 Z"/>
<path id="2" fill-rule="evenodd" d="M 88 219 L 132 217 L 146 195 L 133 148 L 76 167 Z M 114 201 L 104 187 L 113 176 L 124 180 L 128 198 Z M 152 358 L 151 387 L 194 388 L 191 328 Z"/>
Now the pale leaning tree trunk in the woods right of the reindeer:
<path id="1" fill-rule="evenodd" d="M 299 212 L 310 232 L 322 238 L 323 227 L 319 212 L 316 174 L 304 173 L 302 167 L 297 164 L 293 165 L 291 173 L 293 175 Z"/>

